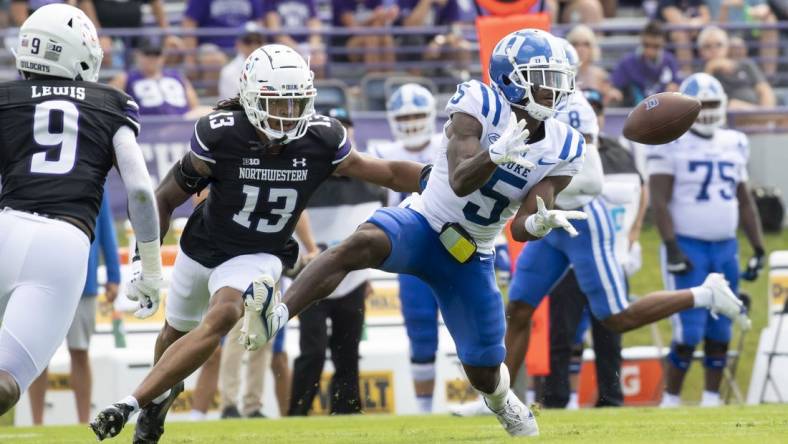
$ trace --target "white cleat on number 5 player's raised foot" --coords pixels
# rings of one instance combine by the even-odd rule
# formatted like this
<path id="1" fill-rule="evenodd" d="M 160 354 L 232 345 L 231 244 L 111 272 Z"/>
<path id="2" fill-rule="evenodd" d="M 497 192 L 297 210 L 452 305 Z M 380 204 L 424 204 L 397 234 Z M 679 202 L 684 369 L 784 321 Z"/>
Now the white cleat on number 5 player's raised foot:
<path id="1" fill-rule="evenodd" d="M 239 342 L 247 350 L 257 350 L 273 338 L 281 327 L 271 322 L 271 312 L 280 302 L 281 295 L 276 292 L 276 282 L 267 275 L 255 278 L 243 294 L 244 320 Z M 276 325 L 272 325 L 276 324 Z"/>

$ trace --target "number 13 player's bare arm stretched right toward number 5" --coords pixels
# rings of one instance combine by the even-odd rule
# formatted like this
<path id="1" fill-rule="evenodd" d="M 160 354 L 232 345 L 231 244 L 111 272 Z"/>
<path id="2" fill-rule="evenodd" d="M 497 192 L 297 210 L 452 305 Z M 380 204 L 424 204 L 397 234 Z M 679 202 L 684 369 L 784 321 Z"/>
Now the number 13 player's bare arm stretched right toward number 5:
<path id="1" fill-rule="evenodd" d="M 419 176 L 425 165 L 408 160 L 382 160 L 353 150 L 335 173 L 374 183 L 394 191 L 419 192 Z"/>

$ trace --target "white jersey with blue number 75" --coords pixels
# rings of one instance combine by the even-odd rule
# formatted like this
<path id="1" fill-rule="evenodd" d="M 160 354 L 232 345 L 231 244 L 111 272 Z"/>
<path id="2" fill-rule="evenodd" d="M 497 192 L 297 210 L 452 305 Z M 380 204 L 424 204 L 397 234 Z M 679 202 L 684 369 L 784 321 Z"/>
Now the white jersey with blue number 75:
<path id="1" fill-rule="evenodd" d="M 689 131 L 649 150 L 649 175 L 674 178 L 668 208 L 676 234 L 706 241 L 736 237 L 736 188 L 747 181 L 749 155 L 747 136 L 731 129 L 718 129 L 711 139 Z"/>

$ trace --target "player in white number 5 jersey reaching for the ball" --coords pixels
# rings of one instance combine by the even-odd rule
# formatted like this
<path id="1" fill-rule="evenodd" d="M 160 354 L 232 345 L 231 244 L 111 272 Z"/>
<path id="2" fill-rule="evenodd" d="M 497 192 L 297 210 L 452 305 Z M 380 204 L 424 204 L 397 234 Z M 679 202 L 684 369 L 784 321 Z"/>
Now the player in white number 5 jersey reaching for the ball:
<path id="1" fill-rule="evenodd" d="M 583 164 L 580 134 L 551 117 L 572 92 L 561 45 L 539 30 L 504 37 L 490 63 L 493 86 L 458 85 L 451 120 L 426 189 L 404 207 L 378 210 L 318 256 L 269 310 L 269 335 L 328 293 L 351 270 L 376 267 L 421 278 L 433 290 L 473 387 L 506 431 L 539 433 L 509 389 L 505 319 L 495 283 L 494 240 L 514 218 L 515 239 L 569 228 L 583 214 L 548 210 Z M 526 144 L 527 142 L 527 144 Z M 546 202 L 546 203 L 545 203 Z"/>

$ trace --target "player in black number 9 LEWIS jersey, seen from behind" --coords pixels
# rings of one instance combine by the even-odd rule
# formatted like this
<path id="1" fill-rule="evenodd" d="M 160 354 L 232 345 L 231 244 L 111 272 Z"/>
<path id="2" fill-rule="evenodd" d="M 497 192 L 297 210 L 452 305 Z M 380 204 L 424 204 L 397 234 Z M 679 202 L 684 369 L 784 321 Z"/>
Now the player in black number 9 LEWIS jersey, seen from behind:
<path id="1" fill-rule="evenodd" d="M 0 84 L 0 415 L 63 342 L 85 285 L 104 181 L 126 184 L 141 273 L 129 293 L 153 313 L 161 282 L 159 221 L 142 151 L 137 104 L 99 85 L 103 53 L 79 9 L 50 4 L 22 25 L 16 67 Z"/>

